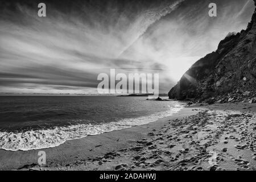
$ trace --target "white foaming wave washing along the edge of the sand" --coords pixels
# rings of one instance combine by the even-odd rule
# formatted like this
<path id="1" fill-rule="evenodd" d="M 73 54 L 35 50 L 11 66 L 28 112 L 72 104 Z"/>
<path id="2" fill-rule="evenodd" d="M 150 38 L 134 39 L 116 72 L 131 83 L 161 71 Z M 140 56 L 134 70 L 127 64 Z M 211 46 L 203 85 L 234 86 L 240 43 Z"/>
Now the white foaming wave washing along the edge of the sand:
<path id="1" fill-rule="evenodd" d="M 177 113 L 182 108 L 183 106 L 181 105 L 175 105 L 167 111 L 138 118 L 126 118 L 118 122 L 100 123 L 98 125 L 78 124 L 18 133 L 3 131 L 0 132 L 0 148 L 9 151 L 28 151 L 56 147 L 67 140 L 80 139 L 88 135 L 98 135 L 154 122 L 159 118 L 164 118 Z"/>

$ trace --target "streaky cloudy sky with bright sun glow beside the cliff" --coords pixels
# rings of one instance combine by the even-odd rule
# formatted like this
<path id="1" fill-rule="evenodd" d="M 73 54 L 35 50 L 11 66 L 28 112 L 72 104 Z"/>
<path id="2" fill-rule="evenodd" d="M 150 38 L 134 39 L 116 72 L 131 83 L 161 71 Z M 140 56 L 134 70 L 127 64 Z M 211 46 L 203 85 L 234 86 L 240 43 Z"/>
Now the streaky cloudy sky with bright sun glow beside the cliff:
<path id="1" fill-rule="evenodd" d="M 253 0 L 1 0 L 0 94 L 94 95 L 110 69 L 158 73 L 168 93 L 228 32 L 245 29 L 254 9 Z"/>

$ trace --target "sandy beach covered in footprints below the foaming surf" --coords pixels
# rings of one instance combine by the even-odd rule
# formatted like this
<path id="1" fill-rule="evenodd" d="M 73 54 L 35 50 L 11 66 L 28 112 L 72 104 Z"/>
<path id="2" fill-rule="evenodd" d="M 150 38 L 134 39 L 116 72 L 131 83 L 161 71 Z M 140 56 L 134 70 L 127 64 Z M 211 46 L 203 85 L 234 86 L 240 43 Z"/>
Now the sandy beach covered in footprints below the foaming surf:
<path id="1" fill-rule="evenodd" d="M 187 106 L 147 125 L 54 148 L 0 150 L 1 170 L 255 170 L 255 104 Z M 47 164 L 38 165 L 38 152 Z"/>

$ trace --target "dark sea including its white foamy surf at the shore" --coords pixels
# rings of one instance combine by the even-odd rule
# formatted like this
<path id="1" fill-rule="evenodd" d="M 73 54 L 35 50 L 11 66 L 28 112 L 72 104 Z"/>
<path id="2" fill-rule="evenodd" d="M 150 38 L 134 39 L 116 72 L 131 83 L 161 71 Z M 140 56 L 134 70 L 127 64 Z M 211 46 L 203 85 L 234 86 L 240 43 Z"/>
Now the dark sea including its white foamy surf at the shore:
<path id="1" fill-rule="evenodd" d="M 67 140 L 155 122 L 184 107 L 178 101 L 146 98 L 1 96 L 0 149 L 56 147 Z"/>

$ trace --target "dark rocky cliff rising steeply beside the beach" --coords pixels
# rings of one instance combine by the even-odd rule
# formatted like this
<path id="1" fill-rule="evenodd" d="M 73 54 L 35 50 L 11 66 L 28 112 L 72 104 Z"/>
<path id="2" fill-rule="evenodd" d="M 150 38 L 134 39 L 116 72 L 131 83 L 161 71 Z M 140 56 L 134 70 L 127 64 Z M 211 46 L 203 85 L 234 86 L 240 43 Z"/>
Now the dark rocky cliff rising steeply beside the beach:
<path id="1" fill-rule="evenodd" d="M 254 0 L 256 6 L 256 0 Z M 206 100 L 256 91 L 256 9 L 246 30 L 229 35 L 217 51 L 197 61 L 168 93 L 178 100 Z M 250 93 L 249 93 L 250 92 Z M 240 94 L 239 94 L 240 93 Z M 226 98 L 226 99 L 229 99 Z M 253 96 L 254 97 L 254 96 Z M 236 98 L 235 98 L 236 99 Z"/>

